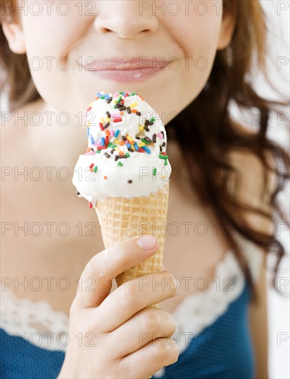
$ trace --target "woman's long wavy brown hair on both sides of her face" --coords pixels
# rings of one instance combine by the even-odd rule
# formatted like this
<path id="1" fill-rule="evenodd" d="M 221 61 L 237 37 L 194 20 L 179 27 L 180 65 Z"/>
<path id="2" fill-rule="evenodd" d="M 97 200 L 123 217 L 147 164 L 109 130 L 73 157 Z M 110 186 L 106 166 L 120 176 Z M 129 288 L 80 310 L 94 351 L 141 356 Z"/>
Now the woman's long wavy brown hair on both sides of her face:
<path id="1" fill-rule="evenodd" d="M 12 21 L 15 1 L 0 0 L 0 4 L 1 17 Z M 267 138 L 269 112 L 276 110 L 278 105 L 288 103 L 262 99 L 247 80 L 254 57 L 257 57 L 259 68 L 265 72 L 267 27 L 260 2 L 224 0 L 223 12 L 235 12 L 236 25 L 231 43 L 226 49 L 217 52 L 207 85 L 185 110 L 167 124 L 167 132 L 187 152 L 185 159 L 189 167 L 197 167 L 203 173 L 202 181 L 195 175 L 191 176 L 191 184 L 198 191 L 201 201 L 213 207 L 221 229 L 227 232 L 228 225 L 231 225 L 232 229 L 256 243 L 266 253 L 276 254 L 275 279 L 284 247 L 277 240 L 275 230 L 268 233 L 258 231 L 249 223 L 247 215 L 250 213 L 260 216 L 272 225 L 281 219 L 288 223 L 278 205 L 277 194 L 289 179 L 290 158 L 282 147 Z M 1 86 L 8 85 L 10 109 L 14 110 L 40 96 L 32 82 L 26 55 L 14 54 L 2 28 L 0 34 L 1 59 L 8 62 L 6 77 Z M 23 64 L 15 64 L 19 61 Z M 231 120 L 231 101 L 240 107 L 258 110 L 260 119 L 257 132 L 245 132 L 245 128 L 238 127 L 238 123 Z M 194 139 L 183 139 L 193 128 Z M 239 182 L 240 172 L 231 164 L 227 154 L 232 150 L 248 152 L 260 162 L 264 177 L 264 191 L 260 194 L 261 204 L 265 205 L 263 209 L 240 201 L 229 190 L 227 181 L 217 180 L 217 173 L 230 170 Z M 284 167 L 284 174 L 278 173 L 277 167 Z M 271 196 L 265 196 L 270 176 L 277 177 L 278 174 L 280 181 L 276 181 L 276 189 Z M 240 247 L 230 233 L 227 236 L 253 290 L 252 294 L 255 294 L 249 267 Z"/>

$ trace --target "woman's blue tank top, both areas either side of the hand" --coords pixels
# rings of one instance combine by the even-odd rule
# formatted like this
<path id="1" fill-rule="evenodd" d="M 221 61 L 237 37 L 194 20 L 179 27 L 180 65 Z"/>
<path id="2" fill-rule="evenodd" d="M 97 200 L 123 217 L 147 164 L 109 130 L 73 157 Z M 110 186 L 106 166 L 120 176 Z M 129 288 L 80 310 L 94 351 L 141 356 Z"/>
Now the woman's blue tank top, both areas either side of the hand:
<path id="1" fill-rule="evenodd" d="M 212 325 L 191 339 L 176 363 L 152 378 L 250 379 L 253 378 L 253 348 L 248 323 L 249 288 L 232 302 Z M 64 351 L 38 347 L 23 337 L 1 332 L 1 378 L 56 378 Z"/>

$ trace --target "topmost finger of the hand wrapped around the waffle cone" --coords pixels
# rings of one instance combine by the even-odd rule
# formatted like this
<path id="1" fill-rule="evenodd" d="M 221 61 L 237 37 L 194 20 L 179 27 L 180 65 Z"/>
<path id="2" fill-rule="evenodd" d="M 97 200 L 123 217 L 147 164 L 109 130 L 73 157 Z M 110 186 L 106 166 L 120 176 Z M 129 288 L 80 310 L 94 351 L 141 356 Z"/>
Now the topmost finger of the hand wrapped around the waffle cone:
<path id="1" fill-rule="evenodd" d="M 159 249 L 158 240 L 151 235 L 127 238 L 93 256 L 83 273 L 74 298 L 81 308 L 99 307 L 110 294 L 112 280 L 122 272 L 146 260 Z M 89 283 L 85 286 L 84 283 Z"/>

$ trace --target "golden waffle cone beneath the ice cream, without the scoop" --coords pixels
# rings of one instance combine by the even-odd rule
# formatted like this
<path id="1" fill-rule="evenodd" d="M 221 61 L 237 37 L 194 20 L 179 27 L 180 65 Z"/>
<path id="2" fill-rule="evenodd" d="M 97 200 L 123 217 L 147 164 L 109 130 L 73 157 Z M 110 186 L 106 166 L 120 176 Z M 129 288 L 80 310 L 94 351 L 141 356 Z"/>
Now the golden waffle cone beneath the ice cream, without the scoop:
<path id="1" fill-rule="evenodd" d="M 156 236 L 160 245 L 154 256 L 118 275 L 118 287 L 133 278 L 162 271 L 168 197 L 169 183 L 166 183 L 147 197 L 107 197 L 97 201 L 96 214 L 106 249 L 125 238 L 145 234 Z"/>

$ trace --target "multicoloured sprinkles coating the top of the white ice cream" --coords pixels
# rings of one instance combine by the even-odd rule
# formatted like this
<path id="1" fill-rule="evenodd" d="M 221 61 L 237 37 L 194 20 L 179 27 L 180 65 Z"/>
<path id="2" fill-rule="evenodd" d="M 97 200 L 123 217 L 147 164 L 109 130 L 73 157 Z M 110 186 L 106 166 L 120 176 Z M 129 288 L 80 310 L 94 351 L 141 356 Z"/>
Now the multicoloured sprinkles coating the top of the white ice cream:
<path id="1" fill-rule="evenodd" d="M 155 118 L 141 117 L 142 112 L 138 109 L 139 103 L 136 98 L 130 104 L 126 101 L 127 105 L 125 105 L 125 99 L 135 95 L 137 95 L 136 92 L 116 92 L 114 94 L 98 92 L 96 94 L 94 101 L 103 100 L 107 104 L 112 104 L 110 105 L 110 110 L 97 115 L 98 120 L 101 122 L 96 123 L 96 125 L 99 125 L 98 128 L 101 134 L 103 134 L 100 138 L 98 137 L 97 141 L 95 141 L 96 135 L 93 132 L 93 121 L 87 121 L 85 124 L 87 126 L 87 138 L 91 145 L 85 155 L 102 154 L 102 157 L 105 159 L 112 157 L 113 161 L 116 162 L 115 164 L 122 167 L 123 162 L 130 159 L 130 156 L 134 153 L 151 154 L 152 147 L 157 143 L 157 147 L 159 146 L 158 158 L 160 158 L 165 166 L 168 164 L 164 132 L 153 133 L 150 131 L 156 121 Z M 139 98 L 143 101 L 141 96 Z M 88 105 L 87 112 L 92 110 L 92 105 L 93 103 Z M 138 117 L 137 122 L 139 123 L 139 127 L 136 135 L 130 135 L 127 132 L 126 123 L 131 117 Z M 152 169 L 152 174 L 156 176 L 156 167 L 152 167 Z M 98 166 L 92 163 L 89 166 L 89 170 L 97 174 Z M 103 176 L 103 179 L 106 180 L 107 176 Z M 132 179 L 127 180 L 128 184 L 132 184 L 132 182 Z M 89 207 L 92 207 L 92 203 L 89 203 Z"/>

